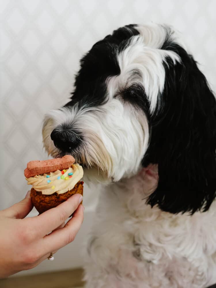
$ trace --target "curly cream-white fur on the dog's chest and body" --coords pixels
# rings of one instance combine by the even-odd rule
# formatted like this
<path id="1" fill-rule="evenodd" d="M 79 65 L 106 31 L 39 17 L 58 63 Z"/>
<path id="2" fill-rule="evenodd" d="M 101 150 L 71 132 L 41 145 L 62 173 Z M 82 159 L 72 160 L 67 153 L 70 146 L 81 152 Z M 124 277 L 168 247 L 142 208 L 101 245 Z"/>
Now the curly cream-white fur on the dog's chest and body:
<path id="1" fill-rule="evenodd" d="M 142 171 L 105 187 L 88 244 L 87 288 L 216 282 L 216 202 L 192 216 L 151 208 L 145 197 L 155 181 Z"/>

